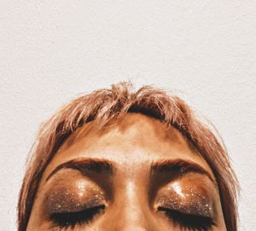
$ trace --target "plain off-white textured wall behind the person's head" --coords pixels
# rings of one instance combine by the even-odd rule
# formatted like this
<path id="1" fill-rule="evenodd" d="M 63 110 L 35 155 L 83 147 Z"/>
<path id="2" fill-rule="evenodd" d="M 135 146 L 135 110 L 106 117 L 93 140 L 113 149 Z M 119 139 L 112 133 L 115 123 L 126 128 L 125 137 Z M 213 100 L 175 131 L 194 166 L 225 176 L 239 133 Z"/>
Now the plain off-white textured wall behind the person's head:
<path id="1" fill-rule="evenodd" d="M 26 153 L 62 103 L 120 80 L 179 91 L 223 136 L 256 226 L 256 1 L 0 2 L 0 230 Z"/>

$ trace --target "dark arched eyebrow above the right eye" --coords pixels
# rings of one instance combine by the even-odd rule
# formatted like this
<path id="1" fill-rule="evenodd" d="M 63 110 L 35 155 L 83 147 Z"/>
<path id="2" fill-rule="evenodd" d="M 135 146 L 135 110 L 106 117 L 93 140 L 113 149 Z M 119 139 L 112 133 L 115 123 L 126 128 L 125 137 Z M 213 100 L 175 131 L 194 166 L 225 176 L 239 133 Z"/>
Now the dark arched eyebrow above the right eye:
<path id="1" fill-rule="evenodd" d="M 180 173 L 181 175 L 189 172 L 200 173 L 207 176 L 214 184 L 216 184 L 214 178 L 212 178 L 212 175 L 201 167 L 201 165 L 189 162 L 187 160 L 185 161 L 183 159 L 168 159 L 153 163 L 150 168 L 150 178 L 159 174 L 173 171 Z"/>

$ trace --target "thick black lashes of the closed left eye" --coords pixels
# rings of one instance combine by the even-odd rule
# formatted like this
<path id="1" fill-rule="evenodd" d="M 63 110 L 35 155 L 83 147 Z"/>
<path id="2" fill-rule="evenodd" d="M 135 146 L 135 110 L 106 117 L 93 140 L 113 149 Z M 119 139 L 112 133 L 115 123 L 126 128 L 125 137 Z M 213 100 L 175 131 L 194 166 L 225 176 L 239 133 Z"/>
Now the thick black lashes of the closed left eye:
<path id="1" fill-rule="evenodd" d="M 50 215 L 50 220 L 54 222 L 55 228 L 74 228 L 77 224 L 91 222 L 97 215 L 101 214 L 105 205 L 97 205 L 84 211 L 75 212 L 55 212 Z"/>

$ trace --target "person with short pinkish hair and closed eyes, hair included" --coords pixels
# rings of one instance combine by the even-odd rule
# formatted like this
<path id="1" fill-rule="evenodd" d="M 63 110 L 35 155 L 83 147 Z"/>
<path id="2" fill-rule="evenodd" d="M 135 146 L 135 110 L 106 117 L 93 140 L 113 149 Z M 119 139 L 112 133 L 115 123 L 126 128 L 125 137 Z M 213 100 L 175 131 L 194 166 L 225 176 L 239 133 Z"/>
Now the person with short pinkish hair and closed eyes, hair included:
<path id="1" fill-rule="evenodd" d="M 18 230 L 237 230 L 238 182 L 221 138 L 176 95 L 130 83 L 43 124 Z"/>

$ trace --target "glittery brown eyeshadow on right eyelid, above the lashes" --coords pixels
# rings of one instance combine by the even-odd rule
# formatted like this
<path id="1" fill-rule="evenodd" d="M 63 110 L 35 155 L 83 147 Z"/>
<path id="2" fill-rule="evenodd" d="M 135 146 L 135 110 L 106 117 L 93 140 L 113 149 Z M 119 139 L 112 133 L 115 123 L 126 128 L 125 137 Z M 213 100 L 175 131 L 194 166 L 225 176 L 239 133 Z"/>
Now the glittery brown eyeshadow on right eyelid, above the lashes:
<path id="1" fill-rule="evenodd" d="M 208 199 L 197 188 L 192 186 L 181 187 L 177 182 L 172 184 L 171 190 L 167 190 L 160 195 L 157 204 L 189 215 L 213 216 L 211 199 Z"/>

